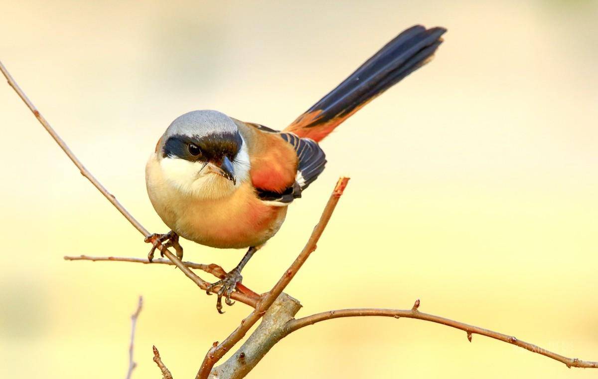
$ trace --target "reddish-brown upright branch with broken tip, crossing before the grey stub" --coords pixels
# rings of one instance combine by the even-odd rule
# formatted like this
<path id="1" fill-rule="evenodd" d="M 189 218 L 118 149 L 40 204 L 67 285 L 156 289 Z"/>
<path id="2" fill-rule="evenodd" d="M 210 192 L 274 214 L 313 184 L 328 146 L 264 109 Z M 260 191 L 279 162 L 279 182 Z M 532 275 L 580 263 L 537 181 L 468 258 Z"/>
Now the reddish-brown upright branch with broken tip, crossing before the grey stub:
<path id="1" fill-rule="evenodd" d="M 205 379 L 208 378 L 210 371 L 212 371 L 213 366 L 219 359 L 221 359 L 224 354 L 227 353 L 237 342 L 240 341 L 245 333 L 251 329 L 252 326 L 266 313 L 266 311 L 270 308 L 272 303 L 278 298 L 280 293 L 285 289 L 286 285 L 289 284 L 291 279 L 297 274 L 297 271 L 301 268 L 303 263 L 307 260 L 309 255 L 316 250 L 316 244 L 324 232 L 330 217 L 332 216 L 332 212 L 338 203 L 338 199 L 340 196 L 343 195 L 343 190 L 347 186 L 349 178 L 341 177 L 338 179 L 334 190 L 332 191 L 332 195 L 328 199 L 328 203 L 326 207 L 324 207 L 324 211 L 322 212 L 322 216 L 318 222 L 318 225 L 313 229 L 312 235 L 310 236 L 307 244 L 297 257 L 295 261 L 289 266 L 289 268 L 285 271 L 282 277 L 278 280 L 278 283 L 274 284 L 274 287 L 268 292 L 260 302 L 258 302 L 257 307 L 248 317 L 241 321 L 241 325 L 235 329 L 221 344 L 215 342 L 214 345 L 208 350 L 206 357 L 203 359 L 202 366 L 200 367 L 199 371 L 197 372 L 196 379 Z"/>

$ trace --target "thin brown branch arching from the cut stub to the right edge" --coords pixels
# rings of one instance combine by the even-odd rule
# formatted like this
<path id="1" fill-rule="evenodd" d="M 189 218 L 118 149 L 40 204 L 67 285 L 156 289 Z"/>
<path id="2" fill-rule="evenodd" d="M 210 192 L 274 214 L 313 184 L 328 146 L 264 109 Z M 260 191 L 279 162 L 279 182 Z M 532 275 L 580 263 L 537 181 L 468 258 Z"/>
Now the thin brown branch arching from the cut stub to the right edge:
<path id="1" fill-rule="evenodd" d="M 565 363 L 567 367 L 583 367 L 583 368 L 598 368 L 598 362 L 591 362 L 589 360 L 579 360 L 577 358 L 568 358 L 562 356 L 560 354 L 553 353 L 552 351 L 548 351 L 545 348 L 539 347 L 538 345 L 530 344 L 529 342 L 521 341 L 520 339 L 515 338 L 514 336 L 509 336 L 503 333 L 493 332 L 488 329 L 480 328 L 478 326 L 469 325 L 466 323 L 445 319 L 444 317 L 434 316 L 433 314 L 422 313 L 419 310 L 419 299 L 413 305 L 411 310 L 388 310 L 388 309 L 377 309 L 377 308 L 363 308 L 363 309 L 346 309 L 346 310 L 335 310 L 335 311 L 328 311 L 322 312 L 317 314 L 312 314 L 312 316 L 303 317 L 301 319 L 294 319 L 290 320 L 286 325 L 286 335 L 297 331 L 298 329 L 304 328 L 308 325 L 313 325 L 315 323 L 325 321 L 325 320 L 332 320 L 338 319 L 339 317 L 361 317 L 361 316 L 385 316 L 385 317 L 394 317 L 395 319 L 399 319 L 401 317 L 407 317 L 408 319 L 418 319 L 418 320 L 425 320 L 429 322 L 434 322 L 446 326 L 450 326 L 451 328 L 460 329 L 467 333 L 467 339 L 471 342 L 471 335 L 472 334 L 479 334 L 483 336 L 487 336 L 490 338 L 498 339 L 499 341 L 507 342 L 509 344 L 513 344 L 515 346 L 524 348 L 526 350 L 532 351 L 532 353 L 542 354 L 543 356 L 547 356 L 549 358 L 558 360 L 559 362 Z"/>

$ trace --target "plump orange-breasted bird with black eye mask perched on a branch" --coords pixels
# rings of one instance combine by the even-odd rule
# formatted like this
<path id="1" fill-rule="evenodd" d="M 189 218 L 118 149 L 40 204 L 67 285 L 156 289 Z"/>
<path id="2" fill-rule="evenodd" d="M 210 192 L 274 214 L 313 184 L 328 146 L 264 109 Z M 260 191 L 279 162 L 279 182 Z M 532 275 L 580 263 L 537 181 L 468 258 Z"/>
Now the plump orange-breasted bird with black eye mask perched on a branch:
<path id="1" fill-rule="evenodd" d="M 286 209 L 324 170 L 318 142 L 380 93 L 428 63 L 444 28 L 413 26 L 380 49 L 283 131 L 213 110 L 185 113 L 158 141 L 146 165 L 149 199 L 171 229 L 146 239 L 173 247 L 179 236 L 216 248 L 249 248 L 232 271 L 210 285 L 230 296 L 252 255 L 280 229 Z"/>

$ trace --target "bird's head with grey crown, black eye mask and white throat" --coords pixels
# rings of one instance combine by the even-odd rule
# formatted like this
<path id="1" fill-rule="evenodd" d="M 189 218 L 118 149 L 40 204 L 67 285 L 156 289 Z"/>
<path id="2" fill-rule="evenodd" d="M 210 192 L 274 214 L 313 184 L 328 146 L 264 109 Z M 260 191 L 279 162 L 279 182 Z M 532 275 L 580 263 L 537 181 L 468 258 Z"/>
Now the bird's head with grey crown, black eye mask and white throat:
<path id="1" fill-rule="evenodd" d="M 248 149 L 234 121 L 217 111 L 179 116 L 158 142 L 164 178 L 199 198 L 222 198 L 249 178 Z"/>

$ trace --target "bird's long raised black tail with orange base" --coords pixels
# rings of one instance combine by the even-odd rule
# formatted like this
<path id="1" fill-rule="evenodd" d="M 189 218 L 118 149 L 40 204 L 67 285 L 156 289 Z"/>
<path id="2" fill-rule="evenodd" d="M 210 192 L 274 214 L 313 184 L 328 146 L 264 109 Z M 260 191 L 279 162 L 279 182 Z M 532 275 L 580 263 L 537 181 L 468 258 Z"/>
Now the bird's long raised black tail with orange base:
<path id="1" fill-rule="evenodd" d="M 380 93 L 428 63 L 444 28 L 412 26 L 362 64 L 343 83 L 301 114 L 285 131 L 320 141 Z"/>

